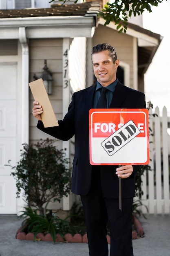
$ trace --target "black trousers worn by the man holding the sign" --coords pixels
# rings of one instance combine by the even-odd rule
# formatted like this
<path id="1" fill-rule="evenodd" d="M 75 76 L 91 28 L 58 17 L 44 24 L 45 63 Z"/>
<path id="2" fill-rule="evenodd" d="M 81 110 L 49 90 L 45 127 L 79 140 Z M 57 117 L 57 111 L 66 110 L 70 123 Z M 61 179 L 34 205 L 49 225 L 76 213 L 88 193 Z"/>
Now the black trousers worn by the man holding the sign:
<path id="1" fill-rule="evenodd" d="M 133 198 L 105 198 L 102 193 L 100 168 L 93 167 L 91 189 L 81 195 L 86 220 L 90 256 L 108 256 L 107 223 L 110 229 L 110 256 L 133 256 L 132 202 Z"/>

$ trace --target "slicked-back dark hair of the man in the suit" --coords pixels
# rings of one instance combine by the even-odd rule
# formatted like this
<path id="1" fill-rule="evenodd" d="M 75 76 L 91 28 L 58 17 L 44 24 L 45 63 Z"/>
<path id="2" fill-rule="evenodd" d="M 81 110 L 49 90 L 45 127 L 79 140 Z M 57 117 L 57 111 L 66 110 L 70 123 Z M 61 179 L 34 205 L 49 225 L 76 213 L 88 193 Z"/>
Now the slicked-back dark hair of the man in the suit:
<path id="1" fill-rule="evenodd" d="M 115 61 L 117 60 L 117 54 L 116 54 L 115 48 L 107 43 L 95 45 L 91 52 L 91 59 L 93 54 L 98 52 L 103 52 L 103 51 L 108 51 L 110 58 L 112 58 L 113 63 L 115 63 Z"/>

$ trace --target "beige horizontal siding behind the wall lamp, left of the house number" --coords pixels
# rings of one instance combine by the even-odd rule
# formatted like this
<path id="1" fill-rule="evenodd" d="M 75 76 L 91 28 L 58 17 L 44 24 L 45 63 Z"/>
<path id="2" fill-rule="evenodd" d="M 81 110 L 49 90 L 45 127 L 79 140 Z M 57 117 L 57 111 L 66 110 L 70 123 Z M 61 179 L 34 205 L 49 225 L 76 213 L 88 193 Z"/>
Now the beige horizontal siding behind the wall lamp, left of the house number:
<path id="1" fill-rule="evenodd" d="M 33 81 L 33 75 L 38 78 L 43 72 L 44 59 L 47 60 L 47 67 L 53 76 L 53 94 L 49 99 L 53 106 L 57 119 L 62 118 L 62 39 L 32 39 L 29 41 L 30 51 L 30 77 Z M 32 116 L 33 96 L 30 91 L 30 143 L 35 143 L 39 139 L 50 137 L 36 128 L 37 120 Z M 58 142 L 62 147 L 62 142 Z"/>

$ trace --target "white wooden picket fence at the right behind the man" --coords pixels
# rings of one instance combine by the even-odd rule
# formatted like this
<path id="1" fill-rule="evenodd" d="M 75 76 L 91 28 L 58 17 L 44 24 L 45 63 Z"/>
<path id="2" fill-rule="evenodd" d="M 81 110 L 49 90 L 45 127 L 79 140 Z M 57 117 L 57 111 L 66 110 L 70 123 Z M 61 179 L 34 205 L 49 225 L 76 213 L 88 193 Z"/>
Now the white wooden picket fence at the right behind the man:
<path id="1" fill-rule="evenodd" d="M 156 116 L 153 117 L 152 114 Z M 150 135 L 150 166 L 152 171 L 142 175 L 142 203 L 147 206 L 148 213 L 170 214 L 170 135 L 168 135 L 168 122 L 166 107 L 160 117 L 159 108 L 149 110 Z M 141 207 L 146 213 L 146 207 Z"/>

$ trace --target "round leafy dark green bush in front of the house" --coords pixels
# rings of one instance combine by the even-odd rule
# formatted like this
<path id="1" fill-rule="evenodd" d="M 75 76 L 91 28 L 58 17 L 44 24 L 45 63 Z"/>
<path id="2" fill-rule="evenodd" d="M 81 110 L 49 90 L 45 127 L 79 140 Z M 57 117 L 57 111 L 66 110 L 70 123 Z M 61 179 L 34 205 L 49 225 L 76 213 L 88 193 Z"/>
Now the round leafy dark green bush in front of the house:
<path id="1" fill-rule="evenodd" d="M 17 198 L 23 189 L 26 202 L 38 209 L 41 216 L 46 215 L 45 209 L 50 201 L 60 202 L 70 191 L 68 159 L 64 150 L 53 146 L 55 141 L 47 138 L 37 144 L 23 144 L 20 161 L 16 166 L 11 166 L 10 160 L 8 164 L 16 180 Z"/>

